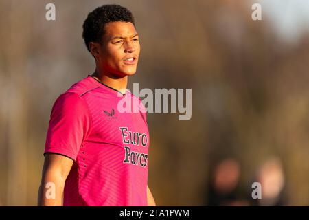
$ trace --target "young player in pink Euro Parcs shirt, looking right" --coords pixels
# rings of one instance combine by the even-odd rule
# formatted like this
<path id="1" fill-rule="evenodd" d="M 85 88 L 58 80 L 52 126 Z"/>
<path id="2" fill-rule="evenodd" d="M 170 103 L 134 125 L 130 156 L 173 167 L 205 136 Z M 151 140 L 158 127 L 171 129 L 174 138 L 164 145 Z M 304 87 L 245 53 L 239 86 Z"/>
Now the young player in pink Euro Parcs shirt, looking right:
<path id="1" fill-rule="evenodd" d="M 140 51 L 133 15 L 103 5 L 89 13 L 82 36 L 95 72 L 54 103 L 38 205 L 155 206 L 147 184 L 146 112 L 126 91 Z M 124 99 L 138 111 L 119 111 Z"/>

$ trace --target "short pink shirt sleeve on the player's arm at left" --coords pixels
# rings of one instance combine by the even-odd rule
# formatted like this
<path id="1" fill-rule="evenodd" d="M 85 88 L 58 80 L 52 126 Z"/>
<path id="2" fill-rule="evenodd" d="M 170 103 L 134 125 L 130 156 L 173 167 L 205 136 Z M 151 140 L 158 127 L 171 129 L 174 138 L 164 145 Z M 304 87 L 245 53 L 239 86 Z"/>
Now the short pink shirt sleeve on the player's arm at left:
<path id="1" fill-rule="evenodd" d="M 58 153 L 76 161 L 80 146 L 89 135 L 91 118 L 87 103 L 76 93 L 61 94 L 52 108 L 45 153 Z"/>

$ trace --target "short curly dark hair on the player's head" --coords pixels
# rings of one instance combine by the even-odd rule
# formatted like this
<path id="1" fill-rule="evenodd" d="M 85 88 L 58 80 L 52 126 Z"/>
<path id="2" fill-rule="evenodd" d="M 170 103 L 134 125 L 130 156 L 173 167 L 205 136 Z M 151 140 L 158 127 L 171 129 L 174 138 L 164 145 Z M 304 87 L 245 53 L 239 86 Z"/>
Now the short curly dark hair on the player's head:
<path id="1" fill-rule="evenodd" d="M 105 34 L 104 25 L 115 21 L 131 22 L 135 25 L 133 14 L 120 5 L 103 5 L 88 14 L 82 25 L 82 38 L 89 52 L 90 42 L 101 42 Z"/>

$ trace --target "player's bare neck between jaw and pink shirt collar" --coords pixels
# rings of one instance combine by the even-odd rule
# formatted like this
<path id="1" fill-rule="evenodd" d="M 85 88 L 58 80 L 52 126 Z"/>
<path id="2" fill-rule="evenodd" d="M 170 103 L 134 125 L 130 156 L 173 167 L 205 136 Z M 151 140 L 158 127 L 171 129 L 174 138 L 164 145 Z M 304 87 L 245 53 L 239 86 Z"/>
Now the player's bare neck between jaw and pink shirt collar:
<path id="1" fill-rule="evenodd" d="M 95 72 L 91 75 L 99 80 L 101 83 L 120 91 L 122 94 L 126 93 L 126 87 L 128 85 L 128 76 L 115 76 L 113 74 L 106 74 L 95 69 Z"/>

